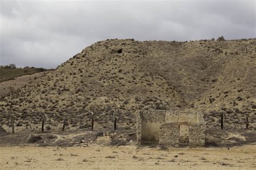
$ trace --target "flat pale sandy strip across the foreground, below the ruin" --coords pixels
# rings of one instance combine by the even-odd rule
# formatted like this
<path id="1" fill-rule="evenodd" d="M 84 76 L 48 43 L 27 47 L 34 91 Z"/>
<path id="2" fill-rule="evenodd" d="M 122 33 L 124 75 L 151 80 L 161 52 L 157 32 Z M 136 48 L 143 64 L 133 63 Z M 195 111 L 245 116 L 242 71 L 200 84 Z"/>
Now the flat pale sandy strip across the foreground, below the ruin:
<path id="1" fill-rule="evenodd" d="M 232 148 L 0 147 L 1 169 L 256 169 L 256 145 Z"/>

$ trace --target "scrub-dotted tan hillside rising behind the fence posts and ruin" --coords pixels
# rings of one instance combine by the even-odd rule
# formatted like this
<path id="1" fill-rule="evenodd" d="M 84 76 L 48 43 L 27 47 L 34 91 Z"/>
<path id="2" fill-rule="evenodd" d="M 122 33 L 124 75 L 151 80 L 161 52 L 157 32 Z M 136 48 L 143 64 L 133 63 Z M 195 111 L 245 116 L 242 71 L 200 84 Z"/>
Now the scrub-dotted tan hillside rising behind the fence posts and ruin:
<path id="1" fill-rule="evenodd" d="M 208 126 L 219 111 L 230 126 L 256 120 L 256 39 L 191 42 L 111 39 L 86 47 L 55 71 L 5 97 L 2 124 L 38 124 L 43 115 L 52 126 L 69 119 L 72 126 L 107 126 L 112 114 L 118 124 L 134 126 L 134 111 L 184 108 L 203 110 Z M 239 125 L 239 126 L 238 126 Z"/>

